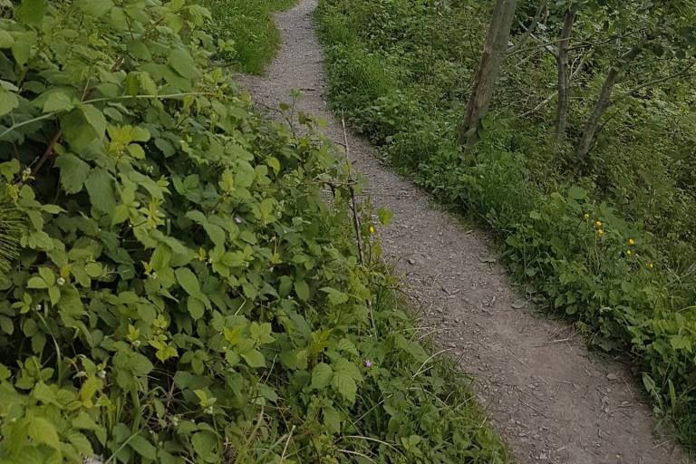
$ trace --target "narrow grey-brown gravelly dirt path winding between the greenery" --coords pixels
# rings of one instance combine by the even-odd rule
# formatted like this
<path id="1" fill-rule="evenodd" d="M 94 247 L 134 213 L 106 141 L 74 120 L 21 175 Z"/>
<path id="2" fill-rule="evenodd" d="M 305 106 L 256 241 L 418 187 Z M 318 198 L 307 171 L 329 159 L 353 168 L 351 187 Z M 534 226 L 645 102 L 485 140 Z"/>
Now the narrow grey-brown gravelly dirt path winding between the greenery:
<path id="1" fill-rule="evenodd" d="M 324 102 L 315 6 L 300 0 L 277 16 L 283 45 L 275 63 L 266 77 L 242 84 L 273 108 L 301 89 L 297 109 L 324 118 L 327 136 L 343 142 L 341 121 Z M 433 208 L 427 194 L 373 157 L 366 140 L 349 134 L 349 145 L 374 203 L 394 213 L 382 231 L 385 256 L 425 323 L 440 329 L 440 343 L 478 378 L 479 399 L 518 463 L 681 462 L 672 441 L 653 438 L 651 409 L 623 365 L 597 361 L 568 325 L 522 307 L 485 237 Z"/>

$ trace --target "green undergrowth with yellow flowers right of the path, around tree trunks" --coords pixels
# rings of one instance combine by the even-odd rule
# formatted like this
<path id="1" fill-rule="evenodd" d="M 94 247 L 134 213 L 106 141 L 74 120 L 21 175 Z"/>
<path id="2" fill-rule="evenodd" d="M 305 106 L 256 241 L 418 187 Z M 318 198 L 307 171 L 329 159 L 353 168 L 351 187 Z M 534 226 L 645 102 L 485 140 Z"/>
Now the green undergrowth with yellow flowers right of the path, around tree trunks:
<path id="1" fill-rule="evenodd" d="M 333 107 L 392 165 L 489 227 L 531 298 L 597 348 L 633 357 L 655 410 L 696 446 L 693 11 L 520 2 L 490 111 L 462 148 L 469 84 L 504 3 L 322 0 Z M 559 137 L 556 47 L 568 15 Z M 584 153 L 607 69 L 621 73 Z"/>

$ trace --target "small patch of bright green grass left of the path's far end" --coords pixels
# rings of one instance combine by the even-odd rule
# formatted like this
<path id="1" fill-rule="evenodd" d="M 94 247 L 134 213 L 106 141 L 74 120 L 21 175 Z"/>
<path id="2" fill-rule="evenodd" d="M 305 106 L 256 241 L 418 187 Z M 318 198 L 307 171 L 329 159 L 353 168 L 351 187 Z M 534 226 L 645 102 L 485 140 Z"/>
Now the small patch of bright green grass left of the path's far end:
<path id="1" fill-rule="evenodd" d="M 244 73 L 260 74 L 280 45 L 273 14 L 296 0 L 202 0 L 212 14 L 206 24 L 219 43 L 218 59 Z"/>

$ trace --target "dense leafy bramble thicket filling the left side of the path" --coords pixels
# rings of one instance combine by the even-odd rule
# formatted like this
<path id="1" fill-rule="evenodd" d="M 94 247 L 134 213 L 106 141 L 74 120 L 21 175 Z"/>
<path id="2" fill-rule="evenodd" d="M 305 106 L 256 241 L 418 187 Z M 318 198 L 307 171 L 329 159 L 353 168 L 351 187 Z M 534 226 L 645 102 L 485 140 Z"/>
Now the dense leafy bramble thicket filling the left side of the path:
<path id="1" fill-rule="evenodd" d="M 208 10 L 0 7 L 0 461 L 506 461 L 314 120 L 208 66 Z"/>

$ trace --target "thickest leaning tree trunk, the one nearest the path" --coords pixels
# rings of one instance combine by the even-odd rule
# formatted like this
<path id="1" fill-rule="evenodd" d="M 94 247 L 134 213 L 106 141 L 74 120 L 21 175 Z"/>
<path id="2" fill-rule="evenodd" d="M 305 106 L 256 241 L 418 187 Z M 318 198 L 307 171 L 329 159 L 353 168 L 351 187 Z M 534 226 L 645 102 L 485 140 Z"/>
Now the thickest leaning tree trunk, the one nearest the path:
<path id="1" fill-rule="evenodd" d="M 483 55 L 478 63 L 474 86 L 469 97 L 469 105 L 464 121 L 459 125 L 459 144 L 473 145 L 478 141 L 478 126 L 488 113 L 495 89 L 500 64 L 507 52 L 510 28 L 515 18 L 517 0 L 498 0 L 493 17 L 488 26 Z"/>

